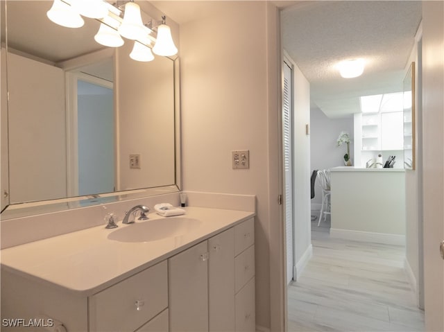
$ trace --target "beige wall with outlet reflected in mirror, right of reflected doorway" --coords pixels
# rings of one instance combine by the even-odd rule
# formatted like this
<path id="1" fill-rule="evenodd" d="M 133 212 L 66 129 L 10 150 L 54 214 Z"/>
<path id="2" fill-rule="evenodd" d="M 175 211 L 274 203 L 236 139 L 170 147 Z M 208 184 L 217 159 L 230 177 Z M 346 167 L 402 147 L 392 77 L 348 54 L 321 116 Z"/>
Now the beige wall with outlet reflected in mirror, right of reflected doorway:
<path id="1" fill-rule="evenodd" d="M 117 190 L 175 183 L 173 61 L 157 56 L 139 62 L 128 54 L 133 43 L 116 50 L 115 80 L 118 114 Z M 140 168 L 129 156 L 140 155 Z"/>

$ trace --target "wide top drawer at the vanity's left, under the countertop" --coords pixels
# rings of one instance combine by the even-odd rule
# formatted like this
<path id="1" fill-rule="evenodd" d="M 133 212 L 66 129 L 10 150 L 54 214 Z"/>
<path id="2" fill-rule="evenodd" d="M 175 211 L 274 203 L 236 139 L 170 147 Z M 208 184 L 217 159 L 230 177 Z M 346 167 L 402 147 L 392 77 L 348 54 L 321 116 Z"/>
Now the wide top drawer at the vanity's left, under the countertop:
<path id="1" fill-rule="evenodd" d="M 89 297 L 89 331 L 135 331 L 167 308 L 167 282 L 163 261 Z"/>

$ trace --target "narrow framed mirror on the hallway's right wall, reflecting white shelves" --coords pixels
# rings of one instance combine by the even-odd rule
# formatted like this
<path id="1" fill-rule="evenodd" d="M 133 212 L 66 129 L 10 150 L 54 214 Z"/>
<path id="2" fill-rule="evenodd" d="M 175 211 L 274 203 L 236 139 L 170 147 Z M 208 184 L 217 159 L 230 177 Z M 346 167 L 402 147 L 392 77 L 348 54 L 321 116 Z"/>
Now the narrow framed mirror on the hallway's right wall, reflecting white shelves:
<path id="1" fill-rule="evenodd" d="M 415 62 L 411 62 L 406 76 L 402 81 L 402 94 L 404 96 L 403 119 L 404 119 L 404 168 L 414 171 L 416 168 L 416 114 L 415 114 Z M 406 105 L 406 96 L 411 93 L 411 105 Z M 411 160 L 406 151 L 411 150 Z"/>

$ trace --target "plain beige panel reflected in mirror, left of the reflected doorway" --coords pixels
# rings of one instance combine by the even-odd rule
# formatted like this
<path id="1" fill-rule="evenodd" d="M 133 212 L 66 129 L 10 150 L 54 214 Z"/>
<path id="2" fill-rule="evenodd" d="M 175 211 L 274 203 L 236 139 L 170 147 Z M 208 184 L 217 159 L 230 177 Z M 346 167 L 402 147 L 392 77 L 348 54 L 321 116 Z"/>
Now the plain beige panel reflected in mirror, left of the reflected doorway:
<path id="1" fill-rule="evenodd" d="M 64 72 L 8 53 L 8 91 L 10 202 L 65 197 Z"/>

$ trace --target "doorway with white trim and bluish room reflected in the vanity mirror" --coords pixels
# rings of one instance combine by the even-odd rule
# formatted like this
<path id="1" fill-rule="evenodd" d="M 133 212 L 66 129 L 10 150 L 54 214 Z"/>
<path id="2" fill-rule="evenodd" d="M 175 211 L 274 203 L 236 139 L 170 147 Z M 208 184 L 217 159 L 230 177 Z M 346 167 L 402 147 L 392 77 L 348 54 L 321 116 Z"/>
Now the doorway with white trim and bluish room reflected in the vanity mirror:
<path id="1" fill-rule="evenodd" d="M 67 72 L 68 195 L 110 193 L 115 188 L 113 83 Z"/>

